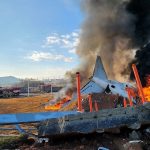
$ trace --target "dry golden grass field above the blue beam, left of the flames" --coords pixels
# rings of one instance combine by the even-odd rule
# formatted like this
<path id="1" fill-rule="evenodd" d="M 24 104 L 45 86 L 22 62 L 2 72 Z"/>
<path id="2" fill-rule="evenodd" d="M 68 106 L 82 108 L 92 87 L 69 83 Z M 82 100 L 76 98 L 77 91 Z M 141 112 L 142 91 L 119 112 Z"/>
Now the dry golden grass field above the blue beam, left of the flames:
<path id="1" fill-rule="evenodd" d="M 52 99 L 51 94 L 39 96 L 0 99 L 0 114 L 45 112 L 45 104 Z"/>

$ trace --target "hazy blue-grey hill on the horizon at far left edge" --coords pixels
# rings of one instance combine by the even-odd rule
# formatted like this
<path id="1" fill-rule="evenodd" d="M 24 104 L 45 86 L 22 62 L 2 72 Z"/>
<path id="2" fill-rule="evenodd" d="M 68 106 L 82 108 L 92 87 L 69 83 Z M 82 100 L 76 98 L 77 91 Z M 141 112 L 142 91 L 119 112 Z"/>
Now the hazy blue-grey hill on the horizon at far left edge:
<path id="1" fill-rule="evenodd" d="M 19 83 L 21 80 L 13 76 L 0 77 L 0 86 L 11 86 Z"/>

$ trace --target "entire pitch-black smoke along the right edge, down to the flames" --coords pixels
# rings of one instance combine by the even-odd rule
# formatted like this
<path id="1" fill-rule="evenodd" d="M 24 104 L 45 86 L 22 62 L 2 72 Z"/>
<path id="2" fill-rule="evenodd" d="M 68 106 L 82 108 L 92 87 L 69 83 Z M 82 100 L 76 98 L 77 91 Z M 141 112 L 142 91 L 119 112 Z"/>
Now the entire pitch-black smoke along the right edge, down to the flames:
<path id="1" fill-rule="evenodd" d="M 142 85 L 146 85 L 145 76 L 150 74 L 150 1 L 149 0 L 130 0 L 127 10 L 135 16 L 135 31 L 133 43 L 138 48 L 135 58 L 129 63 L 125 69 L 130 74 L 130 79 L 134 80 L 132 63 L 137 65 L 137 69 L 142 81 Z"/>

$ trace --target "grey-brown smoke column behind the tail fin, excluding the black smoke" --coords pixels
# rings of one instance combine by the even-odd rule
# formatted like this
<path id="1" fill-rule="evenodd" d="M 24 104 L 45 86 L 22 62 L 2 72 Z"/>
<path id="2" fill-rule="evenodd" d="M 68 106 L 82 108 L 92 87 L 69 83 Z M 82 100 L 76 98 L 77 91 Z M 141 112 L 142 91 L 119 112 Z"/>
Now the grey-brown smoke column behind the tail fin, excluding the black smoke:
<path id="1" fill-rule="evenodd" d="M 110 79 L 123 81 L 126 62 L 132 60 L 132 39 L 135 17 L 126 10 L 124 0 L 84 0 L 85 20 L 81 27 L 77 54 L 80 65 L 66 75 L 75 85 L 75 72 L 81 74 L 82 83 L 91 76 L 97 55 L 102 57 Z"/>

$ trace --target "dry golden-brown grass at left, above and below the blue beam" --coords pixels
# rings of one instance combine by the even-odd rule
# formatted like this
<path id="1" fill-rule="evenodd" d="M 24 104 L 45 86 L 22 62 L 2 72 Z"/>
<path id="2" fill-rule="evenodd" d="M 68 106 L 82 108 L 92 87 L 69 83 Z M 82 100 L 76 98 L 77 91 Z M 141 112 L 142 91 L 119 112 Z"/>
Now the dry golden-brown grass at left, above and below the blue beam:
<path id="1" fill-rule="evenodd" d="M 45 104 L 51 100 L 51 94 L 42 94 L 31 97 L 19 98 L 3 98 L 0 99 L 0 114 L 8 113 L 29 113 L 29 112 L 45 112 Z M 36 124 L 21 124 L 22 128 L 27 129 L 36 128 Z M 0 125 L 0 128 L 15 128 L 14 125 Z M 30 133 L 36 133 L 36 130 L 30 130 Z M 19 135 L 17 130 L 0 130 L 0 135 Z"/>

